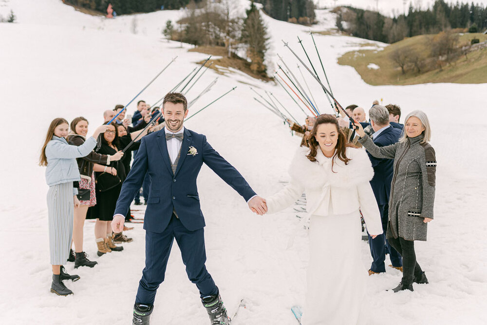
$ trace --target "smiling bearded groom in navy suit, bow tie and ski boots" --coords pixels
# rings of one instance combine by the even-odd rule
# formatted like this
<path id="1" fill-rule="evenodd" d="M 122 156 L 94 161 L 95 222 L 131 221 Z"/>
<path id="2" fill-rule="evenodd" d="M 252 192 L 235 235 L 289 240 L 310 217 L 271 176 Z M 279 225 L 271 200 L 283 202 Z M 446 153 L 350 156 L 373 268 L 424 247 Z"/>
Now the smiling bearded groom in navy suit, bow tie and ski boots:
<path id="1" fill-rule="evenodd" d="M 205 267 L 205 219 L 200 209 L 196 177 L 205 163 L 244 197 L 252 211 L 265 213 L 265 200 L 211 148 L 205 135 L 183 127 L 188 113 L 185 96 L 167 94 L 162 110 L 166 126 L 142 138 L 132 169 L 122 185 L 112 221 L 114 232 L 123 230 L 133 196 L 148 172 L 151 185 L 144 217 L 146 267 L 135 297 L 133 324 L 149 324 L 156 290 L 164 281 L 174 239 L 181 249 L 189 280 L 200 291 L 211 324 L 229 324 L 218 287 Z"/>

